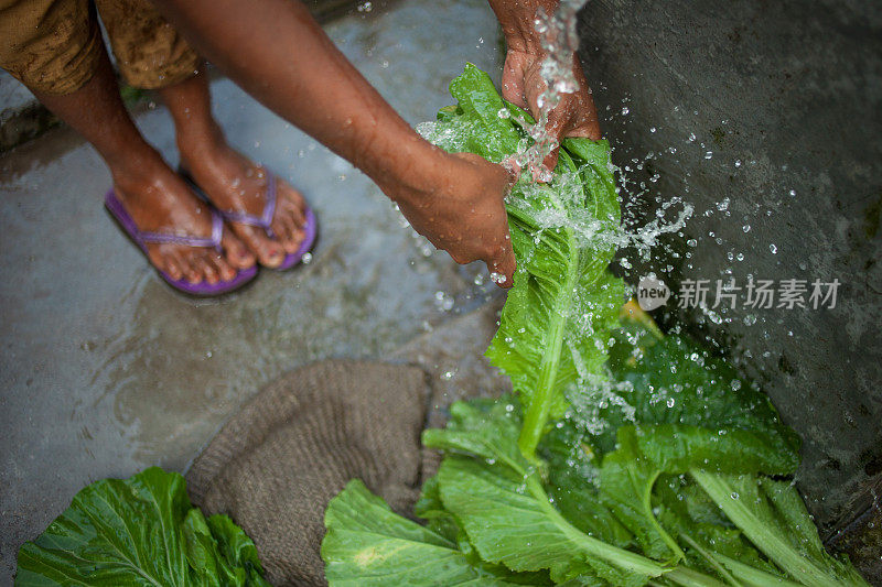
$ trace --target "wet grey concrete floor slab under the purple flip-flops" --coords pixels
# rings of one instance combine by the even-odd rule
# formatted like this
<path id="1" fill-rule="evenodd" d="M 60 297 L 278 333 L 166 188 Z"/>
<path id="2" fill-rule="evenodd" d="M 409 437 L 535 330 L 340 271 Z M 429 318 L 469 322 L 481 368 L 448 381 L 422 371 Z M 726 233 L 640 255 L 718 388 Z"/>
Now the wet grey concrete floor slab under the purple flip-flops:
<path id="1" fill-rule="evenodd" d="M 325 29 L 411 123 L 450 102 L 447 84 L 466 61 L 499 67 L 483 0 L 410 1 Z M 226 79 L 213 96 L 230 142 L 302 189 L 321 224 L 310 264 L 263 271 L 219 301 L 162 283 L 104 213 L 109 174 L 72 131 L 0 157 L 0 585 L 19 545 L 86 483 L 149 465 L 184 470 L 281 372 L 326 357 L 409 356 L 417 337 L 438 348 L 426 337 L 493 290 L 475 284 L 483 268 L 433 252 L 344 160 Z M 162 107 L 137 123 L 174 165 Z M 450 356 L 451 367 L 418 358 L 455 373 Z"/>

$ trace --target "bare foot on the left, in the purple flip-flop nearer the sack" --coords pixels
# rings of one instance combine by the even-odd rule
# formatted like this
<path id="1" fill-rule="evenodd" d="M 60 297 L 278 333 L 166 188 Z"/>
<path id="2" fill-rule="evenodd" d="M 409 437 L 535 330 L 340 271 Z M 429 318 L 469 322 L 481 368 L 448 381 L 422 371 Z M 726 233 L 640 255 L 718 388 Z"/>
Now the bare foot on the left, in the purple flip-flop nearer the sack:
<path id="1" fill-rule="evenodd" d="M 111 170 L 114 189 L 140 230 L 186 237 L 212 233 L 212 214 L 190 186 L 164 163 L 144 163 L 135 172 Z M 255 264 L 255 256 L 232 230 L 224 230 L 223 252 L 207 247 L 147 243 L 150 262 L 173 280 L 212 285 L 229 281 Z"/>

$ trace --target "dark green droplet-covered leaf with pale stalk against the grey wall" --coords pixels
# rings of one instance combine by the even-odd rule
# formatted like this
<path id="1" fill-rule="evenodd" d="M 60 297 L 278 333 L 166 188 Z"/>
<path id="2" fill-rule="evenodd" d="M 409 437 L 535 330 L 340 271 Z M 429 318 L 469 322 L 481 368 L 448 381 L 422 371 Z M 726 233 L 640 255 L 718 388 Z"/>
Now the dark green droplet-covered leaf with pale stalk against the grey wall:
<path id="1" fill-rule="evenodd" d="M 688 339 L 658 339 L 636 327 L 616 338 L 610 367 L 632 385 L 634 424 L 624 424 L 620 406 L 603 412 L 607 422 L 622 423 L 619 448 L 604 466 L 648 460 L 659 474 L 688 472 L 728 521 L 792 578 L 804 585 L 862 585 L 850 565 L 825 552 L 793 485 L 767 477 L 793 474 L 799 463 L 799 439 L 781 424 L 768 399 Z M 595 443 L 610 444 L 603 437 Z"/>

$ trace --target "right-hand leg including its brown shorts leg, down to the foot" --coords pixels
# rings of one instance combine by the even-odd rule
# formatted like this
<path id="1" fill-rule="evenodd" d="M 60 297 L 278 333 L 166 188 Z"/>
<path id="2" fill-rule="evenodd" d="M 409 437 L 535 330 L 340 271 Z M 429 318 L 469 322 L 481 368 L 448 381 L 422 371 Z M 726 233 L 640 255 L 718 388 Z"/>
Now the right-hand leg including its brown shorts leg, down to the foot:
<path id="1" fill-rule="evenodd" d="M 220 209 L 259 217 L 267 178 L 262 170 L 227 145 L 212 118 L 208 85 L 198 73 L 201 57 L 151 0 L 96 0 L 96 6 L 122 76 L 137 88 L 158 90 L 169 106 L 181 161 L 193 180 Z M 275 238 L 260 228 L 227 222 L 267 267 L 278 267 L 303 238 L 303 198 L 284 182 L 278 182 L 277 189 L 271 224 Z"/>

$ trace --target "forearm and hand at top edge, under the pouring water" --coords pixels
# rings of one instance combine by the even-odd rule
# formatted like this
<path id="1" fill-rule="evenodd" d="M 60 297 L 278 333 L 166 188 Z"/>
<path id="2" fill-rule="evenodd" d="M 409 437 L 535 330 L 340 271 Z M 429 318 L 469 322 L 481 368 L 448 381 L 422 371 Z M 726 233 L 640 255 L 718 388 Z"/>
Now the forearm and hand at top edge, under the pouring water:
<path id="1" fill-rule="evenodd" d="M 537 100 L 546 85 L 540 75 L 541 63 L 547 56 L 539 33 L 535 29 L 536 11 L 542 8 L 553 14 L 558 0 L 488 0 L 505 35 L 507 53 L 503 69 L 503 97 L 529 110 L 538 118 Z M 598 111 L 588 86 L 582 65 L 576 53 L 567 56 L 572 61 L 573 75 L 579 90 L 563 95 L 560 104 L 548 117 L 548 127 L 558 138 L 588 137 L 601 138 Z M 557 164 L 557 150 L 545 161 L 553 169 Z"/>

